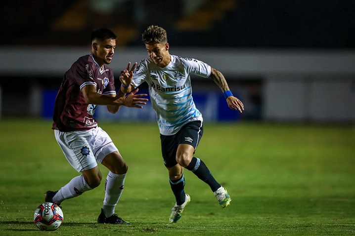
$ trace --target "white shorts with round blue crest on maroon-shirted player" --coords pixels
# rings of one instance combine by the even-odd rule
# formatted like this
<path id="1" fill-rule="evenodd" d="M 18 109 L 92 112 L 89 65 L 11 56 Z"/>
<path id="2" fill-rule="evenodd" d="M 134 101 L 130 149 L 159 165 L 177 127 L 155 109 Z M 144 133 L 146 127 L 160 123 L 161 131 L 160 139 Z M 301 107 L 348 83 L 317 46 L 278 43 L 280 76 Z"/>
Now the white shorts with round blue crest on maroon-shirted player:
<path id="1" fill-rule="evenodd" d="M 97 162 L 101 163 L 107 155 L 118 151 L 110 136 L 100 127 L 71 132 L 55 129 L 54 136 L 64 156 L 78 172 L 97 166 Z"/>

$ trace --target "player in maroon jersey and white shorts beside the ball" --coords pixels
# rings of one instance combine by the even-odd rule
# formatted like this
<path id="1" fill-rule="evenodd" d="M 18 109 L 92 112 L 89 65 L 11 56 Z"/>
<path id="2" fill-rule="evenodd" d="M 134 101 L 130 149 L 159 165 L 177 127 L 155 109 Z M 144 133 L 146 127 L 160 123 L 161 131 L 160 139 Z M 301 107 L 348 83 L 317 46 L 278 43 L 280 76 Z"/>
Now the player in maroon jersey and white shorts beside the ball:
<path id="1" fill-rule="evenodd" d="M 102 179 L 97 166 L 109 169 L 105 197 L 98 223 L 129 224 L 115 214 L 121 197 L 128 166 L 110 136 L 93 117 L 97 105 L 106 105 L 111 113 L 120 107 L 142 108 L 147 94 L 116 94 L 111 63 L 116 35 L 107 29 L 91 34 L 91 53 L 80 57 L 65 73 L 55 99 L 53 129 L 55 138 L 69 163 L 81 175 L 74 177 L 58 191 L 47 191 L 46 202 L 62 203 L 97 187 Z M 130 64 L 128 65 L 128 68 Z M 133 76 L 133 70 L 130 72 Z M 123 85 L 124 86 L 124 85 Z"/>

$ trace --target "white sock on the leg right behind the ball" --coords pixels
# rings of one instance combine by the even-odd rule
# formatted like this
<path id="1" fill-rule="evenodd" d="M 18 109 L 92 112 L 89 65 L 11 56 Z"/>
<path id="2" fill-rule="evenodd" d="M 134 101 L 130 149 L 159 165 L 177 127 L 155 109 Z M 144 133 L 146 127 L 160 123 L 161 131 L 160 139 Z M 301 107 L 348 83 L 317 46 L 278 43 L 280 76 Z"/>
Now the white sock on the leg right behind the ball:
<path id="1" fill-rule="evenodd" d="M 85 181 L 83 175 L 74 177 L 68 184 L 64 185 L 58 193 L 54 195 L 52 200 L 60 204 L 65 199 L 72 197 L 78 197 L 84 192 L 91 190 L 92 188 Z"/>

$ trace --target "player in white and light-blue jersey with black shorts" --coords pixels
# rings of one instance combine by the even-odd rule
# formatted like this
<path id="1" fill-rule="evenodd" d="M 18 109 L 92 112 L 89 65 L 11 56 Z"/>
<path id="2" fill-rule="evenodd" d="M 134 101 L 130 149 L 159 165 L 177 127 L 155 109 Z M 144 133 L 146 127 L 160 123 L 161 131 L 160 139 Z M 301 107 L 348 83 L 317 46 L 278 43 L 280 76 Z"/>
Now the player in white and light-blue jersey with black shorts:
<path id="1" fill-rule="evenodd" d="M 129 93 L 144 81 L 149 84 L 164 164 L 176 198 L 169 220 L 177 222 L 190 201 L 190 196 L 184 192 L 184 168 L 207 183 L 222 208 L 225 208 L 231 201 L 227 191 L 212 176 L 206 164 L 193 157 L 203 133 L 203 118 L 192 99 L 190 75 L 213 79 L 221 88 L 230 109 L 242 112 L 243 103 L 232 95 L 221 72 L 202 61 L 171 55 L 163 28 L 149 26 L 142 34 L 142 40 L 149 58 L 134 64 L 132 69 L 129 63 L 121 73 L 121 91 Z"/>

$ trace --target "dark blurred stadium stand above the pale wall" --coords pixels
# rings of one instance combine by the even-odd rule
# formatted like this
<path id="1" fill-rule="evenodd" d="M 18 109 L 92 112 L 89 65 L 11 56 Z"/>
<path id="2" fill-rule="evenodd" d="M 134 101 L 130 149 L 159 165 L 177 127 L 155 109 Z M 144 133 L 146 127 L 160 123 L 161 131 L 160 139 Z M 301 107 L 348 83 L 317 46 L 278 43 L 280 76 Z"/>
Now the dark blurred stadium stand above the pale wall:
<path id="1" fill-rule="evenodd" d="M 176 46 L 355 47 L 352 1 L 200 0 L 189 13 L 183 0 L 113 1 L 110 12 L 90 0 L 5 1 L 0 44 L 87 45 L 91 30 L 104 26 L 123 36 L 119 46 L 134 46 L 158 24 Z"/>

